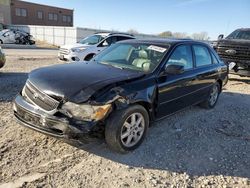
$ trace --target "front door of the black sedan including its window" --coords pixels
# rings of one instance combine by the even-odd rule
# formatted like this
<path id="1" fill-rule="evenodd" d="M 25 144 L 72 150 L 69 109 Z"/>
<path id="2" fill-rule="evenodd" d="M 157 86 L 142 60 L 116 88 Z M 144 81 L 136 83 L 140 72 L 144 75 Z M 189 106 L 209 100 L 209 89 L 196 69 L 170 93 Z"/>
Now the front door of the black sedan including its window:
<path id="1" fill-rule="evenodd" d="M 190 45 L 177 46 L 165 64 L 184 66 L 180 74 L 163 74 L 158 82 L 158 111 L 157 118 L 162 118 L 181 110 L 195 101 L 192 93 L 195 92 L 196 74 Z M 164 71 L 164 70 L 163 70 Z"/>

